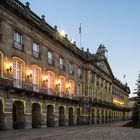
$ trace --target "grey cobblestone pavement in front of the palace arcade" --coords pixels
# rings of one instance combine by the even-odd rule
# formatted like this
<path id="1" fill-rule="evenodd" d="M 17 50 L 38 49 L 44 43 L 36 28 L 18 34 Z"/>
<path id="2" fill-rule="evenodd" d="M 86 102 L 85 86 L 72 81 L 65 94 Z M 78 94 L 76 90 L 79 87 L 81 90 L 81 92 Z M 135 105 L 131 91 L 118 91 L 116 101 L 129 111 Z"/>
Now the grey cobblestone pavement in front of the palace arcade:
<path id="1" fill-rule="evenodd" d="M 125 123 L 0 131 L 0 140 L 140 140 L 140 129 Z"/>

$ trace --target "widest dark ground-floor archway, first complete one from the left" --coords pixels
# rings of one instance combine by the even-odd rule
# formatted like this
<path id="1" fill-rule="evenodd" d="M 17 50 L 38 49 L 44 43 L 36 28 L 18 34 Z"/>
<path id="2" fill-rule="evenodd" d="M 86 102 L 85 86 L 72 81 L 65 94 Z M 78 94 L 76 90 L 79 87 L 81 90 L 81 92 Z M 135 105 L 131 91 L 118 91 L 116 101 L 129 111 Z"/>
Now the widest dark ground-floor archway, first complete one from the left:
<path id="1" fill-rule="evenodd" d="M 13 128 L 24 128 L 24 105 L 21 101 L 15 101 L 13 103 Z"/>

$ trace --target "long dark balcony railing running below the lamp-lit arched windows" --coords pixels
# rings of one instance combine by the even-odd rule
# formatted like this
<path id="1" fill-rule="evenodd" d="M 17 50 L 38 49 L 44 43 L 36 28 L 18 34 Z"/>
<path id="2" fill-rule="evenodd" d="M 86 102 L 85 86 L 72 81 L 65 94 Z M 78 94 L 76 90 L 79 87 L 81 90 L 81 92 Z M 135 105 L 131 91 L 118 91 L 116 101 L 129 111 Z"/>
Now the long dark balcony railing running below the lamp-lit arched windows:
<path id="1" fill-rule="evenodd" d="M 40 87 L 33 83 L 27 83 L 20 79 L 4 79 L 0 77 L 0 89 L 11 90 L 13 93 L 29 93 L 28 95 L 34 96 L 50 96 L 61 99 L 76 100 L 79 101 L 80 97 L 70 96 L 65 92 L 56 92 L 51 88 Z M 15 92 L 14 92 L 15 91 Z"/>

